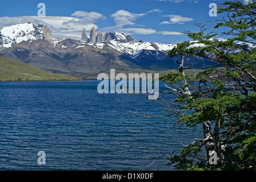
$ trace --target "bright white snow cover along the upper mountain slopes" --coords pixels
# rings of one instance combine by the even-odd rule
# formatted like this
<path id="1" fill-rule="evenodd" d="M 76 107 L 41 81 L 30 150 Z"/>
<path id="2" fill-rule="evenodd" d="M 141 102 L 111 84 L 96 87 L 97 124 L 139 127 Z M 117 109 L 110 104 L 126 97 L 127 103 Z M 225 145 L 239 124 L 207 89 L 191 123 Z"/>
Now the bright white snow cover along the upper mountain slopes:
<path id="1" fill-rule="evenodd" d="M 83 35 L 86 36 L 85 30 Z M 82 48 L 86 45 L 93 46 L 98 49 L 112 48 L 121 52 L 123 55 L 130 57 L 131 59 L 138 59 L 141 57 L 155 57 L 159 60 L 164 57 L 167 51 L 173 49 L 177 44 L 162 44 L 153 42 L 137 41 L 130 35 L 120 34 L 118 32 L 107 31 L 104 35 L 103 42 L 98 43 L 86 43 L 80 40 L 67 39 L 55 39 L 51 34 L 50 29 L 47 26 L 38 25 L 35 26 L 32 23 L 15 24 L 9 27 L 3 27 L 0 31 L 0 47 L 11 47 L 15 44 L 23 41 L 31 41 L 37 39 L 47 39 L 53 44 L 54 48 L 66 49 L 66 48 Z M 211 39 L 214 42 L 225 42 L 225 39 Z M 204 47 L 205 45 L 199 44 L 193 41 L 189 48 L 192 47 Z M 250 43 L 238 43 L 248 44 L 250 49 L 256 48 L 255 44 Z M 236 53 L 240 50 L 229 50 L 230 53 Z"/>

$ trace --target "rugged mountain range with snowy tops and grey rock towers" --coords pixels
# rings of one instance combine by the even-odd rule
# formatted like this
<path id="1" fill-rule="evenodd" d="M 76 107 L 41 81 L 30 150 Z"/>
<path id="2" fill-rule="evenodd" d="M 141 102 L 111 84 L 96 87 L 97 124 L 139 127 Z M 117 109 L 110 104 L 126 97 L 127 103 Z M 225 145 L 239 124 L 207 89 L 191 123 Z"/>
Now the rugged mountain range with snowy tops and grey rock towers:
<path id="1" fill-rule="evenodd" d="M 95 73 L 110 68 L 178 69 L 177 57 L 166 55 L 174 46 L 138 41 L 118 32 L 97 34 L 94 27 L 90 36 L 83 29 L 81 40 L 54 38 L 47 26 L 32 23 L 15 24 L 0 31 L 0 56 L 53 73 Z M 188 57 L 185 63 L 203 69 L 211 61 Z"/>

